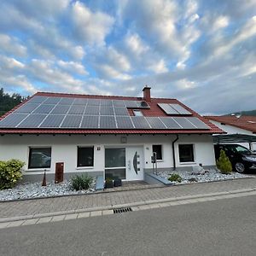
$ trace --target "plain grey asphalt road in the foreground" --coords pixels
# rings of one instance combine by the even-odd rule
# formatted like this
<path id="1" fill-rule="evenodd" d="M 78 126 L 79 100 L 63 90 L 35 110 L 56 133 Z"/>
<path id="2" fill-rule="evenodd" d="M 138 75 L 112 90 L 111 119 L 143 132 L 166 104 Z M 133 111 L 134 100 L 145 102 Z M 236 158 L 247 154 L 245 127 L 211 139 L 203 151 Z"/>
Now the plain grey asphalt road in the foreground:
<path id="1" fill-rule="evenodd" d="M 0 255 L 256 255 L 256 196 L 3 229 Z"/>

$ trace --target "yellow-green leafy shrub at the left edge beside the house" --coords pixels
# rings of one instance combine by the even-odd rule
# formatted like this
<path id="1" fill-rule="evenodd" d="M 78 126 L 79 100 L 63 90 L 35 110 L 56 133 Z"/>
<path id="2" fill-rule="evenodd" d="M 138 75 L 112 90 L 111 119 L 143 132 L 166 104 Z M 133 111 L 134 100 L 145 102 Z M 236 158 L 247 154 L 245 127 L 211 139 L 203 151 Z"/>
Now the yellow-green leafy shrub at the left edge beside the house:
<path id="1" fill-rule="evenodd" d="M 21 169 L 25 165 L 20 160 L 0 161 L 0 190 L 11 189 L 22 177 Z"/>

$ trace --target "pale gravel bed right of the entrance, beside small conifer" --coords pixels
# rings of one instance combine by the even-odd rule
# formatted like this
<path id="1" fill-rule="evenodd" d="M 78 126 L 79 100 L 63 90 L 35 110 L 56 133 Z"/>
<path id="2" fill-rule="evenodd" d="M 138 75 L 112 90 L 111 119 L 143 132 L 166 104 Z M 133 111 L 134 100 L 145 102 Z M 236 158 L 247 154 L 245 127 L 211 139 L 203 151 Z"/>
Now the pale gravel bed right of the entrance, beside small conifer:
<path id="1" fill-rule="evenodd" d="M 202 172 L 181 171 L 181 172 L 158 172 L 157 175 L 168 179 L 172 174 L 178 174 L 182 177 L 182 182 L 172 182 L 174 184 L 187 184 L 187 183 L 206 183 L 212 181 L 221 181 L 228 179 L 236 179 L 243 177 L 251 177 L 238 172 L 231 172 L 230 174 L 222 174 L 218 169 L 204 170 Z"/>

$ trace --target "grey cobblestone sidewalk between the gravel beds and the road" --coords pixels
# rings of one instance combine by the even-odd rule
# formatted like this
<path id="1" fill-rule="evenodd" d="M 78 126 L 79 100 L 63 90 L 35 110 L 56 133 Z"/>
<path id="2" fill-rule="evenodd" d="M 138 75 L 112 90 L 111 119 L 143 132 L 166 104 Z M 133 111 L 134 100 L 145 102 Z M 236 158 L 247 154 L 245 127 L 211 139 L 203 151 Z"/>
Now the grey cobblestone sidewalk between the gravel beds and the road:
<path id="1" fill-rule="evenodd" d="M 189 195 L 207 195 L 238 189 L 255 189 L 256 178 L 245 178 L 214 183 L 196 183 L 151 189 L 116 191 L 94 195 L 73 195 L 46 199 L 0 202 L 0 218 L 24 216 L 46 212 L 61 212 L 107 207 L 125 203 L 160 200 Z"/>

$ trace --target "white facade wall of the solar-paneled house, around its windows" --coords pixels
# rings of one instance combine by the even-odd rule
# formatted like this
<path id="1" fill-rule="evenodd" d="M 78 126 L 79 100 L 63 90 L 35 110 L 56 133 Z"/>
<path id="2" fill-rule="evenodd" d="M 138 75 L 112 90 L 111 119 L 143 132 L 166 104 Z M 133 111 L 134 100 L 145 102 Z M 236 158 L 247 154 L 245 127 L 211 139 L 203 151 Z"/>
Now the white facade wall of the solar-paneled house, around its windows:
<path id="1" fill-rule="evenodd" d="M 172 142 L 176 135 L 128 135 L 127 143 L 121 143 L 121 135 L 4 135 L 0 137 L 0 160 L 19 159 L 26 162 L 25 174 L 42 174 L 44 170 L 28 169 L 29 147 L 51 147 L 51 167 L 49 173 L 55 173 L 55 163 L 64 162 L 64 172 L 103 172 L 105 147 L 129 147 L 143 148 L 143 168 L 152 168 L 152 145 L 161 144 L 163 160 L 158 162 L 158 168 L 173 167 Z M 193 143 L 195 162 L 183 164 L 179 162 L 178 144 Z M 94 146 L 94 166 L 77 168 L 77 147 Z M 195 166 L 200 163 L 203 166 L 215 166 L 212 135 L 179 135 L 175 143 L 177 167 Z"/>

